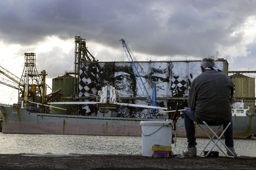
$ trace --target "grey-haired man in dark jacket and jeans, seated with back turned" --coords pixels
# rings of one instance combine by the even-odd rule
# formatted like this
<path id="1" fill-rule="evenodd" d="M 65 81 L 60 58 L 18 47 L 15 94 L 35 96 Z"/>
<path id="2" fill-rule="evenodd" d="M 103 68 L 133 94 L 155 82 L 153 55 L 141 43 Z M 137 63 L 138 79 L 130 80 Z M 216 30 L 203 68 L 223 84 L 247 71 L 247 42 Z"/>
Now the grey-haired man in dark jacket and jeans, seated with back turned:
<path id="1" fill-rule="evenodd" d="M 231 114 L 234 84 L 228 75 L 216 68 L 215 61 L 211 58 L 202 59 L 201 70 L 201 75 L 197 76 L 191 84 L 189 108 L 184 111 L 184 123 L 189 144 L 182 153 L 186 156 L 196 156 L 197 154 L 194 122 L 227 122 L 223 124 L 223 129 L 227 127 L 228 122 L 231 122 L 224 133 L 225 144 L 237 156 L 233 148 Z M 232 156 L 229 151 L 227 154 Z"/>

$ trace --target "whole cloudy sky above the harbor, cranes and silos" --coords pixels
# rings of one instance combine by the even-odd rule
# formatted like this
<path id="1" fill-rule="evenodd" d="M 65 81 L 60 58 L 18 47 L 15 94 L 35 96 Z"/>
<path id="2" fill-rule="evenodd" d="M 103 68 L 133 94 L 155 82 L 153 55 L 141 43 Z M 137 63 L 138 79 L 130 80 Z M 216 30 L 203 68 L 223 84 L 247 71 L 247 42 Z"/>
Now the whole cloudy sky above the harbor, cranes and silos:
<path id="1" fill-rule="evenodd" d="M 123 38 L 138 61 L 219 51 L 230 70 L 256 70 L 255 9 L 254 0 L 1 0 L 0 65 L 21 77 L 24 53 L 36 53 L 51 85 L 74 70 L 74 36 L 81 36 L 99 61 L 122 61 Z M 0 84 L 0 102 L 17 102 L 17 90 Z"/>

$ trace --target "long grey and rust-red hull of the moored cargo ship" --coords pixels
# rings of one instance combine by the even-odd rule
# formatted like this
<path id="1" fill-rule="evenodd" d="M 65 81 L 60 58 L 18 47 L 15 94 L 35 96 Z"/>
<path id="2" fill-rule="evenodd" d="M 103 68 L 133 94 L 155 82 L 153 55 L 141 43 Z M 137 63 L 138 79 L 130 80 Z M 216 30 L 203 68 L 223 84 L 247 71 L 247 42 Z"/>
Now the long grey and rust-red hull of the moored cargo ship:
<path id="1" fill-rule="evenodd" d="M 41 114 L 4 106 L 0 109 L 4 113 L 2 133 L 141 136 L 140 121 L 153 120 Z M 232 120 L 234 138 L 246 138 L 256 134 L 256 117 L 232 116 Z M 157 119 L 157 121 L 165 121 L 165 119 Z M 197 124 L 195 129 L 197 137 L 206 137 Z M 183 119 L 178 119 L 176 133 L 178 137 L 186 137 Z"/>

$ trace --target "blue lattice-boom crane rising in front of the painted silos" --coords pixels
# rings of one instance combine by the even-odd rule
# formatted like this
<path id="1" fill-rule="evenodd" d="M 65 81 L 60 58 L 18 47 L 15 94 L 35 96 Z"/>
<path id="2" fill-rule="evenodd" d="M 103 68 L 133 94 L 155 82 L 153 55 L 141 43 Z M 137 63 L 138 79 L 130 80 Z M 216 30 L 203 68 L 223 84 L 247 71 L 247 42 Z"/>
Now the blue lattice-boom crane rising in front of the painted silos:
<path id="1" fill-rule="evenodd" d="M 147 92 L 147 89 L 146 89 L 146 87 L 145 87 L 145 84 L 144 84 L 144 82 L 142 81 L 142 78 L 141 78 L 141 76 L 140 76 L 140 72 L 138 71 L 138 68 L 137 68 L 137 66 L 135 65 L 135 62 L 133 61 L 133 58 L 132 58 L 132 56 L 131 56 L 131 50 L 130 50 L 130 48 L 128 47 L 128 45 L 126 44 L 126 42 L 125 42 L 125 40 L 122 38 L 122 39 L 120 39 L 119 41 L 122 41 L 122 44 L 123 44 L 123 49 L 124 49 L 124 51 L 125 51 L 125 53 L 126 53 L 126 56 L 127 56 L 127 58 L 128 58 L 128 60 L 129 60 L 129 63 L 130 63 L 130 65 L 131 65 L 131 68 L 132 68 L 132 70 L 133 70 L 133 73 L 134 73 L 134 75 L 135 75 L 135 78 L 136 78 L 136 80 L 137 80 L 137 82 L 138 82 L 138 85 L 139 85 L 139 87 L 140 87 L 140 90 L 142 91 L 142 94 L 143 94 L 143 96 L 144 96 L 144 99 L 145 99 L 145 101 L 147 102 L 147 104 L 149 104 L 149 105 L 152 105 L 152 106 L 157 106 L 157 104 L 156 104 L 156 84 L 155 83 L 152 83 L 152 87 L 153 87 L 153 89 L 152 89 L 152 91 L 153 91 L 153 94 L 152 94 L 152 100 L 150 99 L 150 96 L 149 96 L 149 93 Z M 141 67 L 141 66 L 140 66 Z M 158 112 L 158 109 L 152 109 L 151 110 L 151 113 L 152 114 L 154 114 L 154 113 L 156 113 L 156 112 Z"/>

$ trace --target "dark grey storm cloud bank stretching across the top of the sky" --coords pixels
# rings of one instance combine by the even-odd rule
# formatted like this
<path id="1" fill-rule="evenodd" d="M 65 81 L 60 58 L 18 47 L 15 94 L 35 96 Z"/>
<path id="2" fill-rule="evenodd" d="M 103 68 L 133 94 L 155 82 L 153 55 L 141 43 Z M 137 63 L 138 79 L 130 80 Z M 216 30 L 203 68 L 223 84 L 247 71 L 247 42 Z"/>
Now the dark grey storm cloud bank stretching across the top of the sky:
<path id="1" fill-rule="evenodd" d="M 231 3 L 232 2 L 232 3 Z M 133 51 L 157 56 L 207 56 L 250 15 L 253 1 L 13 0 L 0 2 L 0 41 L 30 45 L 47 36 L 74 36 L 119 48 L 124 38 Z"/>

